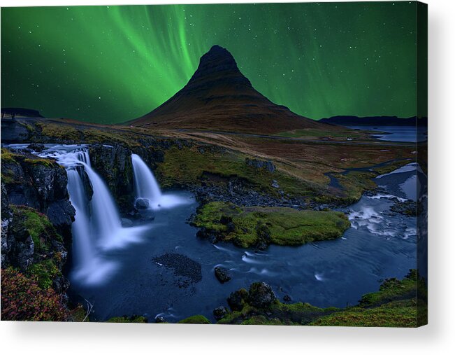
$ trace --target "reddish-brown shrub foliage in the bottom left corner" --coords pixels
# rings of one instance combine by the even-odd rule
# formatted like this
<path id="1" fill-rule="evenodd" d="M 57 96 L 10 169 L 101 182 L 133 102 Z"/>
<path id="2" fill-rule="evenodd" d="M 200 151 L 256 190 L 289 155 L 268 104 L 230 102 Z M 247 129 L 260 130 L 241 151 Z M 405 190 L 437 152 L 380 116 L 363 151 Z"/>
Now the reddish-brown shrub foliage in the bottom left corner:
<path id="1" fill-rule="evenodd" d="M 68 310 L 54 290 L 8 267 L 1 270 L 1 320 L 67 321 Z"/>

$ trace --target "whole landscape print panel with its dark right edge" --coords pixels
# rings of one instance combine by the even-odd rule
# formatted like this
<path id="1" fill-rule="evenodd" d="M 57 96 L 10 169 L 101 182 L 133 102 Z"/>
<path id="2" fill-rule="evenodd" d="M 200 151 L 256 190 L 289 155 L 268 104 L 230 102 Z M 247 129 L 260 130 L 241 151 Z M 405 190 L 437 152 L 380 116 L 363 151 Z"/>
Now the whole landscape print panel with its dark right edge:
<path id="1" fill-rule="evenodd" d="M 426 323 L 426 5 L 1 9 L 1 319 Z"/>

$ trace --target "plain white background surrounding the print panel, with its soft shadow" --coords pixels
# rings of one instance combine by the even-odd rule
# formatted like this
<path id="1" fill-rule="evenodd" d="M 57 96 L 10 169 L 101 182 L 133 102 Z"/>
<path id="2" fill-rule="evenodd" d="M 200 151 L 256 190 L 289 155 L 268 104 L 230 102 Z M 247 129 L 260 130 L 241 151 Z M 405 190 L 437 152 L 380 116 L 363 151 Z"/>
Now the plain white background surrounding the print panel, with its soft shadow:
<path id="1" fill-rule="evenodd" d="M 194 4 L 221 1 L 0 0 L 0 5 L 175 2 Z M 2 354 L 455 354 L 455 1 L 426 2 L 430 123 L 428 326 L 393 329 L 2 321 Z"/>

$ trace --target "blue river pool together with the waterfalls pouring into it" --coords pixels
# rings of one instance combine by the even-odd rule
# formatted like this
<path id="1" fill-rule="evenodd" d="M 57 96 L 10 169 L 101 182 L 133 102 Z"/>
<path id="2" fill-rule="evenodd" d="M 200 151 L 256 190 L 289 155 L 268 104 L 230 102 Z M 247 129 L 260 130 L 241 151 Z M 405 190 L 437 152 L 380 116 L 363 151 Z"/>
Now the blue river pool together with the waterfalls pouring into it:
<path id="1" fill-rule="evenodd" d="M 416 218 L 389 213 L 393 204 L 389 197 L 414 199 L 406 186 L 421 174 L 416 165 L 378 176 L 377 183 L 387 194 L 363 196 L 350 206 L 352 228 L 341 238 L 254 251 L 196 237 L 197 230 L 187 219 L 198 204 L 185 191 L 168 191 L 157 199 L 156 194 L 136 195 L 153 199 L 154 221 L 134 221 L 133 227 L 122 228 L 115 202 L 90 167 L 84 146 L 48 146 L 41 155 L 57 158 L 68 172 L 68 191 L 76 209 L 71 293 L 76 300 L 92 302 L 92 316 L 100 321 L 124 314 L 144 315 L 150 321 L 161 315 L 171 322 L 203 314 L 214 320 L 212 310 L 227 305 L 229 293 L 254 281 L 266 281 L 281 300 L 290 295 L 292 302 L 344 307 L 377 291 L 383 279 L 402 278 L 416 267 Z M 145 186 L 156 183 L 150 179 L 152 172 L 140 164 L 140 157 L 133 159 L 138 191 L 153 191 L 153 186 Z M 94 190 L 91 201 L 82 172 Z M 178 203 L 161 205 L 166 199 Z M 103 211 L 110 216 L 103 219 Z M 194 260 L 201 265 L 201 277 L 179 276 L 154 260 L 166 253 Z M 231 281 L 220 284 L 216 266 L 229 269 Z"/>

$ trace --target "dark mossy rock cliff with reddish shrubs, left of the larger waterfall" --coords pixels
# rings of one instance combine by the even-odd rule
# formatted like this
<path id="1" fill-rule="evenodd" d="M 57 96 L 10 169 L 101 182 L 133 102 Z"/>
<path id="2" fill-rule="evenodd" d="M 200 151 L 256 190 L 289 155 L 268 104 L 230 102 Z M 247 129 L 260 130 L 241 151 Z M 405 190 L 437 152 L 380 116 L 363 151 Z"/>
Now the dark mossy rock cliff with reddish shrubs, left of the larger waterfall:
<path id="1" fill-rule="evenodd" d="M 1 316 L 69 320 L 68 279 L 75 211 L 55 161 L 1 153 Z"/>

